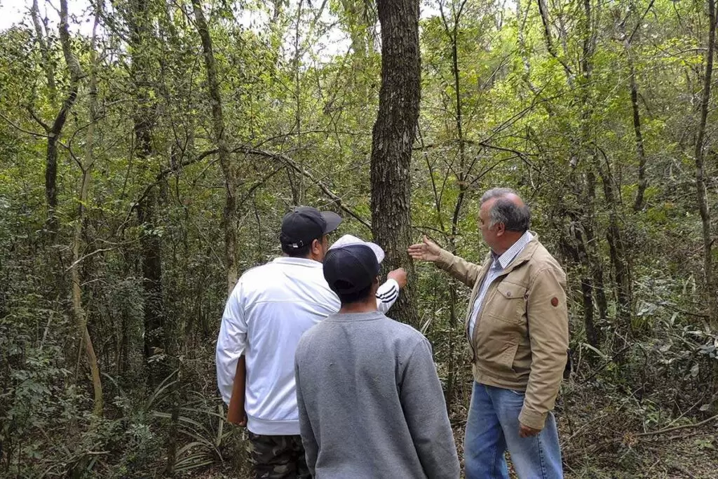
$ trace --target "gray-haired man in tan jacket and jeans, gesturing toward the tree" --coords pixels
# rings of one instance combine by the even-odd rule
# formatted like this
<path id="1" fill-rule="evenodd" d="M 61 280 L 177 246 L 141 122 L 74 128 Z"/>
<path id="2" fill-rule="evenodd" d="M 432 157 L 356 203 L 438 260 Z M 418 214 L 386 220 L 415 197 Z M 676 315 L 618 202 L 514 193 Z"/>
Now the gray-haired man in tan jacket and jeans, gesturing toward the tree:
<path id="1" fill-rule="evenodd" d="M 536 233 L 521 197 L 495 188 L 481 198 L 490 247 L 479 266 L 424 237 L 409 246 L 472 288 L 466 317 L 474 386 L 466 424 L 467 479 L 508 479 L 508 448 L 521 479 L 562 478 L 551 413 L 567 360 L 566 275 Z"/>

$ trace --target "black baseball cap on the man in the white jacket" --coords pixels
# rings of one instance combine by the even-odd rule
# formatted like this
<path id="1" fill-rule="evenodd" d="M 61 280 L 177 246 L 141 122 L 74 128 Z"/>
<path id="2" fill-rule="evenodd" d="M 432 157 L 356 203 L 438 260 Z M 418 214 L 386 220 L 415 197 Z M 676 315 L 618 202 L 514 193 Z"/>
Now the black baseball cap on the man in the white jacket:
<path id="1" fill-rule="evenodd" d="M 310 206 L 298 206 L 286 213 L 281 220 L 279 241 L 289 249 L 300 249 L 309 246 L 315 239 L 331 233 L 342 217 L 331 211 L 319 211 Z"/>

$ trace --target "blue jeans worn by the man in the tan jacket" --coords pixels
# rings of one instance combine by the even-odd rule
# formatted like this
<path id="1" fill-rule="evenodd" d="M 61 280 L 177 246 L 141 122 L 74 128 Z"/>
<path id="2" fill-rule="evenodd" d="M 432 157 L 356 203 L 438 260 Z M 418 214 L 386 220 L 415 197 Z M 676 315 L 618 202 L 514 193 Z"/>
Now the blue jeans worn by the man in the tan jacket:
<path id="1" fill-rule="evenodd" d="M 553 414 L 536 436 L 518 435 L 523 397 L 522 392 L 474 381 L 464 440 L 466 479 L 508 479 L 507 448 L 520 479 L 564 477 Z"/>

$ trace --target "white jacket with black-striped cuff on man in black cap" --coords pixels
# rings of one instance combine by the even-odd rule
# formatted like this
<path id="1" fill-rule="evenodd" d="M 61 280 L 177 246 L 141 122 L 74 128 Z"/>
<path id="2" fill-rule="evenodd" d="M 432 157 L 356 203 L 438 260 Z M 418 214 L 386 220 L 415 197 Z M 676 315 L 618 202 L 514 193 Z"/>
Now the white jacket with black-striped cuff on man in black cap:
<path id="1" fill-rule="evenodd" d="M 387 312 L 398 292 L 393 279 L 382 284 L 378 309 Z M 304 331 L 339 308 L 318 261 L 281 257 L 239 279 L 217 340 L 217 384 L 229 404 L 237 361 L 246 355 L 245 411 L 251 432 L 299 434 L 294 352 Z"/>

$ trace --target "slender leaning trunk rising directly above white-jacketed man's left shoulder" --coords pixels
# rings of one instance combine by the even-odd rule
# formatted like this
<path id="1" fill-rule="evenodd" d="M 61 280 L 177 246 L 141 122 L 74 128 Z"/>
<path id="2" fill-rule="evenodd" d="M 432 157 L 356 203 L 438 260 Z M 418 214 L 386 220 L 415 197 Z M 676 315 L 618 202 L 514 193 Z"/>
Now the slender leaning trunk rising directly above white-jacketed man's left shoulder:
<path id="1" fill-rule="evenodd" d="M 199 0 L 192 0 L 192 8 L 195 11 L 197 32 L 202 39 L 202 51 L 205 57 L 207 68 L 207 88 L 212 102 L 212 126 L 217 144 L 217 154 L 225 177 L 225 261 L 227 262 L 227 294 L 231 294 L 238 279 L 238 255 L 236 231 L 238 228 L 237 210 L 239 205 L 236 201 L 239 175 L 238 168 L 230 161 L 230 153 L 225 138 L 225 123 L 222 111 L 222 97 L 220 96 L 220 84 L 217 79 L 217 65 L 212 47 L 212 37 L 207 26 L 205 14 L 202 12 L 202 4 Z"/>

